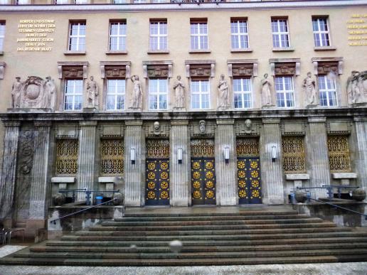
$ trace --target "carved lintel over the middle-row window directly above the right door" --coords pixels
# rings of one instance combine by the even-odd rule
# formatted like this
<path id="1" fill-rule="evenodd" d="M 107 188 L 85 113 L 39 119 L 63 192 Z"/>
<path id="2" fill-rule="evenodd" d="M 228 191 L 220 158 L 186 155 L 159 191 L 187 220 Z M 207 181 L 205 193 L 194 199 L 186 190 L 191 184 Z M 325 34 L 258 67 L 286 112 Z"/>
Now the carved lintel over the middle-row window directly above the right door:
<path id="1" fill-rule="evenodd" d="M 229 77 L 256 77 L 257 59 L 228 60 Z"/>

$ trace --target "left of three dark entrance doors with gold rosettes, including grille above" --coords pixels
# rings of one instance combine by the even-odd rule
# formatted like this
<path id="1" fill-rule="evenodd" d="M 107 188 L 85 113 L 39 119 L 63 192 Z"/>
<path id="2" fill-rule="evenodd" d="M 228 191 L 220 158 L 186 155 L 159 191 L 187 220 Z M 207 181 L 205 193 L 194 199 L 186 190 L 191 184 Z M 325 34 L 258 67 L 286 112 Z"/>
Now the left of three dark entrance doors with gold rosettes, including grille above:
<path id="1" fill-rule="evenodd" d="M 147 140 L 145 205 L 169 205 L 169 140 Z"/>

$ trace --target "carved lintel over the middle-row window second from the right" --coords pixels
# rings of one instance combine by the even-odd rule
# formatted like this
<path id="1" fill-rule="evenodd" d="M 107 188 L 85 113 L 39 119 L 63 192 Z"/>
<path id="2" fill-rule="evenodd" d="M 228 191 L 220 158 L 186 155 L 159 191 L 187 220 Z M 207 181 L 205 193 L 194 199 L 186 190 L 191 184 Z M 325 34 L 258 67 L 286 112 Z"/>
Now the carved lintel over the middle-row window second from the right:
<path id="1" fill-rule="evenodd" d="M 270 59 L 270 74 L 275 75 L 299 75 L 301 60 L 299 58 L 275 58 Z"/>

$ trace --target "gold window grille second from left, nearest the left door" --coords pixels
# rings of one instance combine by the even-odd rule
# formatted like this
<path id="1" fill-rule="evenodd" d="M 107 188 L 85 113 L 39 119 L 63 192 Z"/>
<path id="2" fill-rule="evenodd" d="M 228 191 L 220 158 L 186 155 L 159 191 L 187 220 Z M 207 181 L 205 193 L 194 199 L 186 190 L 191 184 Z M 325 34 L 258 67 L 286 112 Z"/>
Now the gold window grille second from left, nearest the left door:
<path id="1" fill-rule="evenodd" d="M 101 174 L 122 175 L 124 173 L 123 139 L 101 140 Z"/>

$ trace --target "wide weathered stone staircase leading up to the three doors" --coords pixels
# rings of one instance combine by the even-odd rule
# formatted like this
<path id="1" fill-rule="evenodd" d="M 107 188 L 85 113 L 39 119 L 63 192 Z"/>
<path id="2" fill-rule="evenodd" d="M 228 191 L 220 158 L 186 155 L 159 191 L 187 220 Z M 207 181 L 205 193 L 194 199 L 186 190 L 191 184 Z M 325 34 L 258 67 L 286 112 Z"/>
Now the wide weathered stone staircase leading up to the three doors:
<path id="1" fill-rule="evenodd" d="M 282 207 L 139 210 L 16 252 L 0 264 L 194 266 L 367 261 L 367 231 Z M 171 208 L 172 209 L 172 208 Z M 179 239 L 181 252 L 169 242 Z"/>

